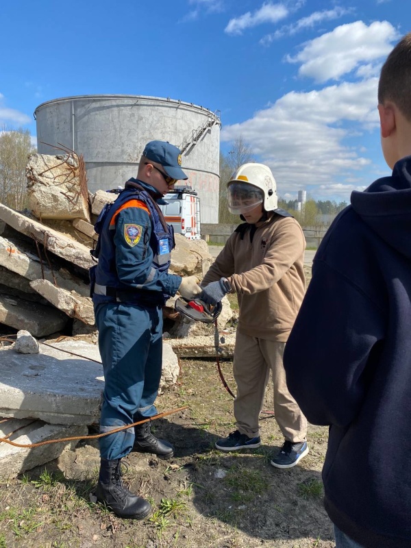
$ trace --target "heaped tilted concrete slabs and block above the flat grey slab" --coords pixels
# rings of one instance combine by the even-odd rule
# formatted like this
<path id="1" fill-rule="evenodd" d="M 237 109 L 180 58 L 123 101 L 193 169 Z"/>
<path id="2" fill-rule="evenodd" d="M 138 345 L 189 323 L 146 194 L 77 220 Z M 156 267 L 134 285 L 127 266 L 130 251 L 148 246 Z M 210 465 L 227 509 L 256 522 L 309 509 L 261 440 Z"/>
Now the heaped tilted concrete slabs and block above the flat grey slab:
<path id="1" fill-rule="evenodd" d="M 31 155 L 27 180 L 28 212 L 0 204 L 0 323 L 36 337 L 95 333 L 88 277 L 97 240 L 93 225 L 116 194 L 88 193 L 84 162 L 74 153 Z M 201 279 L 212 262 L 206 242 L 179 234 L 175 240 L 170 271 Z M 220 325 L 230 314 L 225 302 Z M 212 334 L 183 323 L 172 300 L 164 317 L 172 321 L 167 330 L 174 338 Z"/>

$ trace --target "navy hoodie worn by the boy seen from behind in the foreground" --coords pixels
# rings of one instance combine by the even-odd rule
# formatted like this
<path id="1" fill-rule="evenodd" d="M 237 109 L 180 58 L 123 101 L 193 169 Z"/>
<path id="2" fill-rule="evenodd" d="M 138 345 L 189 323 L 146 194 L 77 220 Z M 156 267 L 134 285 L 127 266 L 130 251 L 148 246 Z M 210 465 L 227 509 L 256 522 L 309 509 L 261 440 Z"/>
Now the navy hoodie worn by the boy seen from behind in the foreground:
<path id="1" fill-rule="evenodd" d="M 284 353 L 290 393 L 329 425 L 325 509 L 366 548 L 411 547 L 410 299 L 408 156 L 329 227 Z"/>

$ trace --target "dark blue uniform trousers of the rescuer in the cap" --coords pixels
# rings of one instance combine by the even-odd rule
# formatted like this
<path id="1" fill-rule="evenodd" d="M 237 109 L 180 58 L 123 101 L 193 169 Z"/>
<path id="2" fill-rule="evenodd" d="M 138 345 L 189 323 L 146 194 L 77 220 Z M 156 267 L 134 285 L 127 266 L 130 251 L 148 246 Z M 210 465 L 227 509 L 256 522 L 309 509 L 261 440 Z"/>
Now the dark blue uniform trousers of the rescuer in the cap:
<path id="1" fill-rule="evenodd" d="M 100 432 L 110 432 L 157 414 L 154 406 L 162 370 L 162 310 L 135 304 L 95 306 L 105 379 Z M 134 427 L 99 438 L 100 456 L 125 457 Z"/>

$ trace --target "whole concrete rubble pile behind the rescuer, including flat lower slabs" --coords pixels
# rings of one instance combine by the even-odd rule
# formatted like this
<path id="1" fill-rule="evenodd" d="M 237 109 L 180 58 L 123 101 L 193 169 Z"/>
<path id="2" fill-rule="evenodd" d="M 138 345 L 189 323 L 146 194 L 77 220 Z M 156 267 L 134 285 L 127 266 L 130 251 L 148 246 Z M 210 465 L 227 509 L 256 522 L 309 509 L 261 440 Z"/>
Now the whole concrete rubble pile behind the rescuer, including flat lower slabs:
<path id="1" fill-rule="evenodd" d="M 88 269 L 95 220 L 116 199 L 88 192 L 84 162 L 73 152 L 31 155 L 26 173 L 29 210 L 0 203 L 0 334 L 18 330 L 14 345 L 0 343 L 0 438 L 23 445 L 86 436 L 99 421 L 104 379 Z M 175 241 L 170 271 L 201 279 L 212 263 L 206 242 L 179 234 Z M 214 326 L 183 319 L 174 301 L 163 309 L 160 392 L 177 382 L 180 356 L 215 353 Z M 219 329 L 231 316 L 225 297 Z M 226 338 L 220 353 L 232 356 L 234 335 Z M 32 449 L 0 443 L 0 477 L 16 477 L 76 443 Z"/>

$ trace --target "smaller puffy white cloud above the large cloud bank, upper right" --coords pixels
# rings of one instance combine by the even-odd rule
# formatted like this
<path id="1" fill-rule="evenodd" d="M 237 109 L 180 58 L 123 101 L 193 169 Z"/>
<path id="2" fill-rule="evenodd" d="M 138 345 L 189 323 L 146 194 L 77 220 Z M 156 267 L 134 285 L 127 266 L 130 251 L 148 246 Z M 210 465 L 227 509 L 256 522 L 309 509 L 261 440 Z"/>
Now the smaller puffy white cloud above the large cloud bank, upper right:
<path id="1" fill-rule="evenodd" d="M 397 30 L 388 21 L 375 21 L 368 27 L 356 21 L 306 42 L 297 55 L 288 55 L 286 60 L 301 63 L 299 75 L 316 82 L 338 80 L 362 63 L 386 58 L 393 49 L 391 42 L 397 38 Z"/>

